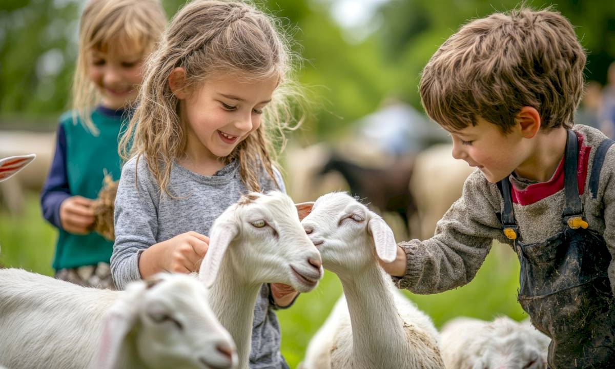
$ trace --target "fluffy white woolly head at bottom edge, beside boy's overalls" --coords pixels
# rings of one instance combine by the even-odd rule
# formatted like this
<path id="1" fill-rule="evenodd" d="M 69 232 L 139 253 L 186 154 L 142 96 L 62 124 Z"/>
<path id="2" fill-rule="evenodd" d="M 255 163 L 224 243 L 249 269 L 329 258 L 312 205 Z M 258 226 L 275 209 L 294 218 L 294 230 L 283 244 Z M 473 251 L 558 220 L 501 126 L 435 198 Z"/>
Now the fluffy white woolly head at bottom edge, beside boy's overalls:
<path id="1" fill-rule="evenodd" d="M 541 335 L 535 328 L 523 326 L 507 317 L 500 317 L 489 323 L 487 333 L 480 340 L 482 351 L 472 369 L 546 369 L 547 343 L 539 343 Z M 530 330 L 534 330 L 533 332 Z M 478 343 L 477 343 L 478 344 Z"/>

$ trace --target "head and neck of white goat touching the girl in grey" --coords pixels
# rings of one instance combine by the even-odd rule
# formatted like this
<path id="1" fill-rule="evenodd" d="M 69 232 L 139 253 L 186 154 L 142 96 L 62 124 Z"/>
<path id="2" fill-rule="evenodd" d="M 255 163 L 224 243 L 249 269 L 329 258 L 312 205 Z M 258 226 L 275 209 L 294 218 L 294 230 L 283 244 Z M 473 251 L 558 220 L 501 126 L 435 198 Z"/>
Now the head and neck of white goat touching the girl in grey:
<path id="1" fill-rule="evenodd" d="M 286 194 L 248 194 L 216 219 L 200 278 L 210 287 L 213 312 L 237 345 L 240 368 L 248 368 L 261 285 L 278 282 L 308 292 L 320 277 L 319 252 Z"/>

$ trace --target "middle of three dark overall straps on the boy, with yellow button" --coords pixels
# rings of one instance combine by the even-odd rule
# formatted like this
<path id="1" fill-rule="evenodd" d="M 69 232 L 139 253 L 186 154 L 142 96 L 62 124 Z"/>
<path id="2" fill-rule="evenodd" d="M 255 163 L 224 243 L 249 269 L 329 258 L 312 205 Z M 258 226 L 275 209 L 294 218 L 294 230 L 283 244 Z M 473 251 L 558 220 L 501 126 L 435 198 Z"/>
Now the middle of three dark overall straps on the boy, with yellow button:
<path id="1" fill-rule="evenodd" d="M 583 220 L 583 205 L 579 197 L 577 181 L 577 166 L 579 158 L 579 142 L 576 133 L 567 130 L 566 153 L 564 154 L 564 194 L 565 206 L 563 218 L 572 229 L 587 228 L 589 224 Z"/>

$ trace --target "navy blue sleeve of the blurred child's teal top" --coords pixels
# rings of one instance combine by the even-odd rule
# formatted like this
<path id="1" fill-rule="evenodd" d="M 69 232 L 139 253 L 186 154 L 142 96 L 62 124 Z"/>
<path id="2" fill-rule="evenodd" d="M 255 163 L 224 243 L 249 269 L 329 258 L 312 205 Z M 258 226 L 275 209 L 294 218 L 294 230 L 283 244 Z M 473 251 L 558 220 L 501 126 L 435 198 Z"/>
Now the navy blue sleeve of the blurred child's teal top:
<path id="1" fill-rule="evenodd" d="M 49 168 L 47 180 L 41 192 L 42 216 L 57 228 L 60 226 L 60 204 L 71 197 L 66 173 L 66 135 L 62 124 L 58 125 L 54 161 Z"/>

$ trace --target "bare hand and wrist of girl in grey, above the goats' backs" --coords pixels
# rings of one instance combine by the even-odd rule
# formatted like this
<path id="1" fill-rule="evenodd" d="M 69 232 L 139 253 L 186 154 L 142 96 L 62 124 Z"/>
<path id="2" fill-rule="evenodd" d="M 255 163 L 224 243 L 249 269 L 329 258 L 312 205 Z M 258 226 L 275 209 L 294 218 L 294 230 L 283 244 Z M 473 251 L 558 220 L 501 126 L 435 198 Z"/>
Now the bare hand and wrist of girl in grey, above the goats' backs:
<path id="1" fill-rule="evenodd" d="M 207 253 L 209 237 L 190 231 L 151 245 L 141 254 L 139 271 L 147 278 L 157 272 L 197 272 Z"/>

